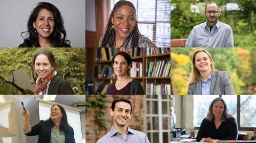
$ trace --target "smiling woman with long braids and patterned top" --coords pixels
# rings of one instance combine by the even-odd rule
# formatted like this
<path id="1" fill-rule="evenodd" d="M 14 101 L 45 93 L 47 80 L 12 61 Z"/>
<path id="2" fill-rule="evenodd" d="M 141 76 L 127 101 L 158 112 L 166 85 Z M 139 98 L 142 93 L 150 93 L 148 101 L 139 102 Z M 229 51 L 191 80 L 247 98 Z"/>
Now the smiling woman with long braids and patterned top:
<path id="1" fill-rule="evenodd" d="M 116 2 L 108 19 L 99 47 L 157 47 L 139 32 L 136 9 L 130 1 Z"/>

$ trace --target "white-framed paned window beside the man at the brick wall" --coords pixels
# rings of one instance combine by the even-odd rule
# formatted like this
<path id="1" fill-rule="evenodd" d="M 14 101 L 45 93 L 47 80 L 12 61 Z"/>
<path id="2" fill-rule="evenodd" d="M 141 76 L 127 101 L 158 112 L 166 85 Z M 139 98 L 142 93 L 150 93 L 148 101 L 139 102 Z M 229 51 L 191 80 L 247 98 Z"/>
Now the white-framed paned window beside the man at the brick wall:
<path id="1" fill-rule="evenodd" d="M 147 129 L 149 142 L 166 143 L 170 139 L 170 96 L 148 95 Z"/>

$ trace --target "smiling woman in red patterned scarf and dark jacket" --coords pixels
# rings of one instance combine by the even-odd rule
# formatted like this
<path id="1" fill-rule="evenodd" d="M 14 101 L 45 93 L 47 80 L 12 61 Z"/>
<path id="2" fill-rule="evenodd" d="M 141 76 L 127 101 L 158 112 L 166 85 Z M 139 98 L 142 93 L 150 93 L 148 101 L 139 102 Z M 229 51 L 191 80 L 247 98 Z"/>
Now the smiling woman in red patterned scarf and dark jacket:
<path id="1" fill-rule="evenodd" d="M 48 50 L 39 50 L 33 58 L 36 80 L 35 95 L 73 95 L 70 84 L 57 75 L 54 55 Z"/>

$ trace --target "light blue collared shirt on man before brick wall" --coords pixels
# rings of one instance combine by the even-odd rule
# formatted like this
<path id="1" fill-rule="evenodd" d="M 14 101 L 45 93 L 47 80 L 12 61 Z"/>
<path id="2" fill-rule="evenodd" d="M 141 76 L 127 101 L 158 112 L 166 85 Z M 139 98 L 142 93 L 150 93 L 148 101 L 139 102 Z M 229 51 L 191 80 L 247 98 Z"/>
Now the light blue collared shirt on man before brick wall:
<path id="1" fill-rule="evenodd" d="M 123 138 L 122 134 L 117 132 L 112 125 L 110 131 L 102 136 L 97 143 L 149 143 L 149 140 L 145 133 L 130 129 L 129 127 L 125 138 Z"/>

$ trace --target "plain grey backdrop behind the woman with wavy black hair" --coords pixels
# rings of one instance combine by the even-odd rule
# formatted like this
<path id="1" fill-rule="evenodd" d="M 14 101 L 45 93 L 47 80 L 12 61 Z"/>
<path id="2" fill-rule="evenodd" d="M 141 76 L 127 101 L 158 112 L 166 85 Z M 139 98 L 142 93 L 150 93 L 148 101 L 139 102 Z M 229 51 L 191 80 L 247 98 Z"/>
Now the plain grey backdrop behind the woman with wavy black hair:
<path id="1" fill-rule="evenodd" d="M 45 0 L 61 12 L 67 38 L 72 47 L 85 47 L 85 0 Z M 23 42 L 21 32 L 27 31 L 31 11 L 39 0 L 2 0 L 0 5 L 0 47 L 17 47 Z"/>

